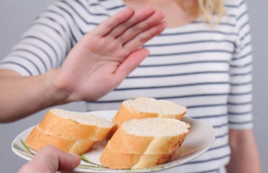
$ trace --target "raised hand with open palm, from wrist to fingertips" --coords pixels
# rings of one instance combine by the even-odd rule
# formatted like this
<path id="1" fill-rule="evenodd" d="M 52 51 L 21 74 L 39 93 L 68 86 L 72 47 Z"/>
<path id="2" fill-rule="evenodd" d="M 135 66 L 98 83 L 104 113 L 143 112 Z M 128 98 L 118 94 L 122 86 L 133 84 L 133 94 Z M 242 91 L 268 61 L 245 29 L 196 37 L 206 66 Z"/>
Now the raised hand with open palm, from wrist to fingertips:
<path id="1" fill-rule="evenodd" d="M 69 52 L 55 76 L 67 102 L 96 100 L 117 87 L 148 55 L 143 43 L 166 27 L 151 6 L 126 8 L 87 33 Z"/>

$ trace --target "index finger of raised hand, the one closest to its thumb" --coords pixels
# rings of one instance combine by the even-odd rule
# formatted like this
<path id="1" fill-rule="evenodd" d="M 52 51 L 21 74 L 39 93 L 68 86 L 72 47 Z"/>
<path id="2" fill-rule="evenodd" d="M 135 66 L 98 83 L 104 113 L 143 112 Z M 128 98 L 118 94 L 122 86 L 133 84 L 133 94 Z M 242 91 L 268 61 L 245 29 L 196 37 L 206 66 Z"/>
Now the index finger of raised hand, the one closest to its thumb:
<path id="1" fill-rule="evenodd" d="M 128 43 L 125 43 L 124 47 L 133 52 L 134 50 L 141 47 L 144 43 L 146 43 L 151 38 L 159 35 L 166 28 L 166 23 L 159 23 L 158 25 L 150 28 L 149 30 L 139 34 L 133 40 Z"/>

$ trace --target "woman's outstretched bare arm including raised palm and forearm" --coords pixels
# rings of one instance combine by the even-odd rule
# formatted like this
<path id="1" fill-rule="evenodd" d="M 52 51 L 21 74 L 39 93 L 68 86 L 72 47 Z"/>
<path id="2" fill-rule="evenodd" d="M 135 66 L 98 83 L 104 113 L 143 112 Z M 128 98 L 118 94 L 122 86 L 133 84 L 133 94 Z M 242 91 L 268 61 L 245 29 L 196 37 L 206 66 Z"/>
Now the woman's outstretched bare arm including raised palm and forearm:
<path id="1" fill-rule="evenodd" d="M 23 118 L 43 108 L 96 100 L 117 87 L 148 55 L 140 48 L 160 34 L 162 12 L 126 8 L 87 33 L 68 53 L 61 69 L 34 77 L 0 72 L 0 122 Z"/>

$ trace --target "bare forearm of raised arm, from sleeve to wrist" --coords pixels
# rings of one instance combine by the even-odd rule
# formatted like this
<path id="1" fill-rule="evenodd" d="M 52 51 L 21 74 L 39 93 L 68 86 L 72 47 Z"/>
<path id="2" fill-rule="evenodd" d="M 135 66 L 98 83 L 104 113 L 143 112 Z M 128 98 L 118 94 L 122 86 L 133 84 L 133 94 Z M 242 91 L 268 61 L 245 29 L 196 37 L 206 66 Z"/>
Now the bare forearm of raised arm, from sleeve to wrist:
<path id="1" fill-rule="evenodd" d="M 44 108 L 64 103 L 67 94 L 53 83 L 57 70 L 34 77 L 0 76 L 0 122 L 21 119 Z"/>

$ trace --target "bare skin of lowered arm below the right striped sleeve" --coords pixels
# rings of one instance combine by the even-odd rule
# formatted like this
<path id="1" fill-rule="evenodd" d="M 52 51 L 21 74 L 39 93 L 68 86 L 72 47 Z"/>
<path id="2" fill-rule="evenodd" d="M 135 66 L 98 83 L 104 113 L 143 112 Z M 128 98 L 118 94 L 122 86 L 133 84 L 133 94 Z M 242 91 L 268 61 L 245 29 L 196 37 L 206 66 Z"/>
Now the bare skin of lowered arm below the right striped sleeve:
<path id="1" fill-rule="evenodd" d="M 252 130 L 229 130 L 231 160 L 228 173 L 262 173 Z"/>

